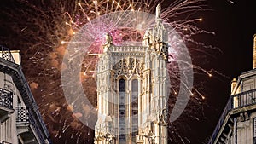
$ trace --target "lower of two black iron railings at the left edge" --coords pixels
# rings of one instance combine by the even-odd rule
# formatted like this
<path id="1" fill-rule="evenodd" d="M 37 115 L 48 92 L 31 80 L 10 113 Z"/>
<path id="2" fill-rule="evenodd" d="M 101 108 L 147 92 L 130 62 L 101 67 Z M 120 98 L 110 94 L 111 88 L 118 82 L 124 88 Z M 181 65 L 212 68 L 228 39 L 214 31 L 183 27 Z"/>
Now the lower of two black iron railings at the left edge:
<path id="1" fill-rule="evenodd" d="M 0 88 L 0 106 L 13 109 L 13 92 Z"/>

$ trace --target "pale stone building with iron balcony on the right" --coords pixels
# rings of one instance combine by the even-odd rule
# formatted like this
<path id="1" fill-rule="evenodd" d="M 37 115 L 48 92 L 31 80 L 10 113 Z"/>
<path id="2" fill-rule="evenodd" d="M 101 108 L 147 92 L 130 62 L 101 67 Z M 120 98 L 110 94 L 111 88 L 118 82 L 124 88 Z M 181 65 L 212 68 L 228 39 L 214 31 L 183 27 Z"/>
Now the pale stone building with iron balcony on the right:
<path id="1" fill-rule="evenodd" d="M 230 99 L 209 144 L 256 144 L 256 37 L 253 36 L 253 70 L 231 82 Z"/>

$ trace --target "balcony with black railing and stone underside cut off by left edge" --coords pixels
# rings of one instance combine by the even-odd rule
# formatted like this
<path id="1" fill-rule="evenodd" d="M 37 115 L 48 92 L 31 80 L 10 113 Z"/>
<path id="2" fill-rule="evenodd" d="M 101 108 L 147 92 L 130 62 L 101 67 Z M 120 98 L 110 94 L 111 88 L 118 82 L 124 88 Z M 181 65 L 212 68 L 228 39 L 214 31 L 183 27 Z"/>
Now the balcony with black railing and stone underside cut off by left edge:
<path id="1" fill-rule="evenodd" d="M 4 122 L 14 113 L 13 93 L 7 89 L 0 88 L 0 120 Z"/>

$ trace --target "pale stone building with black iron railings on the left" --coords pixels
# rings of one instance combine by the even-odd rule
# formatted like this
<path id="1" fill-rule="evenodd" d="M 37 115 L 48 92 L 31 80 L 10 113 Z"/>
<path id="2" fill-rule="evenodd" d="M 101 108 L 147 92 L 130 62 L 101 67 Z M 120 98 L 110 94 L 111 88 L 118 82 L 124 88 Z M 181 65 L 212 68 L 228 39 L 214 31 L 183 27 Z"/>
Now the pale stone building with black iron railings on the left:
<path id="1" fill-rule="evenodd" d="M 49 132 L 21 71 L 19 51 L 0 50 L 0 144 L 49 144 Z"/>

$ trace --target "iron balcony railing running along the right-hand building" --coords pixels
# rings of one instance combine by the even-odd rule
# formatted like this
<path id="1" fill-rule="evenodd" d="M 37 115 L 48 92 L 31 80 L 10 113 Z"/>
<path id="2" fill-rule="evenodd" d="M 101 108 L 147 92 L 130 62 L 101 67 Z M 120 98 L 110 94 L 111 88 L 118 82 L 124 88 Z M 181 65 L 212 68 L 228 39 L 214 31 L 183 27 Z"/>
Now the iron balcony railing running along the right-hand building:
<path id="1" fill-rule="evenodd" d="M 208 144 L 213 144 L 215 139 L 217 138 L 218 132 L 224 124 L 224 120 L 227 114 L 234 109 L 238 109 L 241 107 L 247 107 L 250 105 L 256 104 L 256 89 L 248 90 L 245 92 L 241 92 L 236 95 L 231 95 L 227 105 L 224 107 L 224 111 L 222 112 L 218 124 L 215 127 L 215 130 L 212 133 L 212 137 Z"/>

